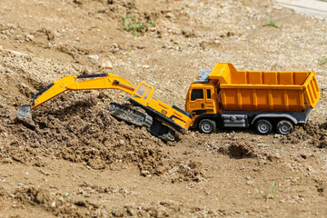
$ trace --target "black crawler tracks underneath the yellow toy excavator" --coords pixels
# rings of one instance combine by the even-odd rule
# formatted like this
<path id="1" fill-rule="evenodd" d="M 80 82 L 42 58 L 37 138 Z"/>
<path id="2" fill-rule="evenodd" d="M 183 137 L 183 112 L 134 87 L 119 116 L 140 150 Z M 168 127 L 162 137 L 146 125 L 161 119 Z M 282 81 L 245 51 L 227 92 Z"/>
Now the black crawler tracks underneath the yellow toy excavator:
<path id="1" fill-rule="evenodd" d="M 110 103 L 109 111 L 115 118 L 123 120 L 127 124 L 144 126 L 147 131 L 163 141 L 174 141 L 175 139 L 175 133 L 170 127 L 153 119 L 149 114 L 132 108 L 128 104 Z"/>

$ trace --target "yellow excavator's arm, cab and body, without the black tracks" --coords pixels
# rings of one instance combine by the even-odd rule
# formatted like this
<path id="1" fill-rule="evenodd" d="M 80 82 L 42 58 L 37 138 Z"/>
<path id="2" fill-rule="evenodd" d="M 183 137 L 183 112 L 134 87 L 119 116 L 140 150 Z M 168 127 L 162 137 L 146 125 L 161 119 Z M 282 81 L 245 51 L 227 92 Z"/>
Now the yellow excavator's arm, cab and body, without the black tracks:
<path id="1" fill-rule="evenodd" d="M 32 119 L 27 123 L 26 117 L 32 118 L 30 110 L 58 94 L 67 90 L 90 89 L 119 89 L 131 95 L 128 98 L 132 104 L 140 106 L 150 116 L 154 117 L 156 124 L 162 123 L 185 134 L 191 124 L 192 116 L 176 106 L 169 106 L 163 102 L 152 99 L 154 87 L 144 82 L 134 87 L 129 81 L 115 74 L 83 74 L 64 76 L 62 79 L 47 85 L 43 90 L 33 95 L 32 104 L 22 106 L 17 112 L 17 118 L 30 127 L 35 128 Z M 162 125 L 157 125 L 160 129 Z M 156 130 L 158 131 L 158 130 Z"/>

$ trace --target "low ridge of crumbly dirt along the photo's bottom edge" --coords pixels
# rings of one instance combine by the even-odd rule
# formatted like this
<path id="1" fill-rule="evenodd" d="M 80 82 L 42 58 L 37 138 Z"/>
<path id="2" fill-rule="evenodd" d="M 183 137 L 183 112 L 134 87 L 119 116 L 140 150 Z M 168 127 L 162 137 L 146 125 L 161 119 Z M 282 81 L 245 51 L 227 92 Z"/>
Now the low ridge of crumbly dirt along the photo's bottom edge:
<path id="1" fill-rule="evenodd" d="M 15 190 L 15 199 L 20 205 L 31 204 L 42 207 L 54 216 L 61 217 L 167 217 L 177 211 L 188 216 L 213 216 L 219 214 L 205 208 L 188 207 L 173 201 L 154 202 L 152 204 L 142 203 L 135 205 L 130 203 L 121 208 L 110 205 L 99 205 L 87 200 L 74 200 L 69 193 L 60 195 L 49 193 L 40 188 L 19 188 Z"/>

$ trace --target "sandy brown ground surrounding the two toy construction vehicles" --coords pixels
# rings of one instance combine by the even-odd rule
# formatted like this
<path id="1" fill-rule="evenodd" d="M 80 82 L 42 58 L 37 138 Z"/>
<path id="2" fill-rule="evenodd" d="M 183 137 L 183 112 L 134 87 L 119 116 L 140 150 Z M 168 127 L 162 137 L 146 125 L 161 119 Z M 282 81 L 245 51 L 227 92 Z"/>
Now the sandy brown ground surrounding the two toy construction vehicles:
<path id="1" fill-rule="evenodd" d="M 125 31 L 127 14 L 144 29 Z M 326 20 L 259 0 L 2 0 L 0 18 L 1 218 L 327 214 Z M 183 108 L 193 77 L 218 62 L 314 70 L 322 98 L 288 136 L 219 129 L 163 143 L 108 113 L 124 102 L 117 90 L 61 94 L 35 109 L 35 130 L 15 121 L 70 74 L 145 81 Z"/>

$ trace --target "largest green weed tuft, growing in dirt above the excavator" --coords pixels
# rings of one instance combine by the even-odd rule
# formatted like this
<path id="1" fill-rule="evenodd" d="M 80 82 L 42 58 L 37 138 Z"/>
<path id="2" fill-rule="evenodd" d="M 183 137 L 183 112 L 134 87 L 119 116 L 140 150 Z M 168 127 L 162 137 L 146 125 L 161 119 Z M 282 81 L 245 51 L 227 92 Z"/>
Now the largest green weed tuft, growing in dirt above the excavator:
<path id="1" fill-rule="evenodd" d="M 143 30 L 148 31 L 148 26 L 155 27 L 154 21 L 150 20 L 146 23 L 140 22 L 136 19 L 135 15 L 124 15 L 123 17 L 124 30 L 127 32 L 132 32 L 133 35 L 141 33 Z"/>

